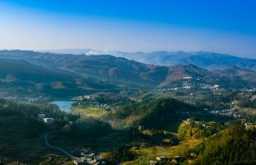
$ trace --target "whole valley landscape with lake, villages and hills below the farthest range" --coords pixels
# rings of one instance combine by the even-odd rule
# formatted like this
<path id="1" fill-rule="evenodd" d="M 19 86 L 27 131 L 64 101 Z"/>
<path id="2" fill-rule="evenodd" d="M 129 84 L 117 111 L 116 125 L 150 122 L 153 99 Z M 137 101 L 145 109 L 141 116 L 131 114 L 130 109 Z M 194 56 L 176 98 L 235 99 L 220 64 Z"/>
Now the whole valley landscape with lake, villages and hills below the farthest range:
<path id="1" fill-rule="evenodd" d="M 254 70 L 21 50 L 0 64 L 2 164 L 255 163 Z"/>

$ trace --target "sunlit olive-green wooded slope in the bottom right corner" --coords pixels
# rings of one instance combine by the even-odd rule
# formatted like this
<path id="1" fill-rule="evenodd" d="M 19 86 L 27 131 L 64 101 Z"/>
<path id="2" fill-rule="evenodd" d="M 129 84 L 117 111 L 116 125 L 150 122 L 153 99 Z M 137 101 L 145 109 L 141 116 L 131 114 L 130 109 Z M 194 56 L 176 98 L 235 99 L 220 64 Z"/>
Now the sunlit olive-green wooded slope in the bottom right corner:
<path id="1" fill-rule="evenodd" d="M 255 130 L 245 130 L 237 124 L 200 144 L 194 164 L 255 164 Z"/>

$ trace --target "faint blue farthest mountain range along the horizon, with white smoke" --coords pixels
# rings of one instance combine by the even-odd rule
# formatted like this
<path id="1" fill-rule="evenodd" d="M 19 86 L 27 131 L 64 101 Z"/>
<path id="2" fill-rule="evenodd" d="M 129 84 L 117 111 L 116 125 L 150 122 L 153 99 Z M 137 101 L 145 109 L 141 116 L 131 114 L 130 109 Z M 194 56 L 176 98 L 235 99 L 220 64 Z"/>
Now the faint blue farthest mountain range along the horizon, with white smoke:
<path id="1" fill-rule="evenodd" d="M 178 64 L 194 64 L 201 68 L 210 70 L 223 69 L 226 67 L 236 66 L 239 68 L 249 68 L 256 71 L 256 59 L 244 59 L 230 54 L 217 54 L 212 52 L 168 52 L 155 51 L 152 53 L 145 52 L 121 52 L 121 51 L 97 51 L 97 50 L 49 50 L 57 54 L 111 54 L 117 57 L 123 57 L 135 60 L 144 64 L 154 64 L 159 66 L 173 66 Z"/>

